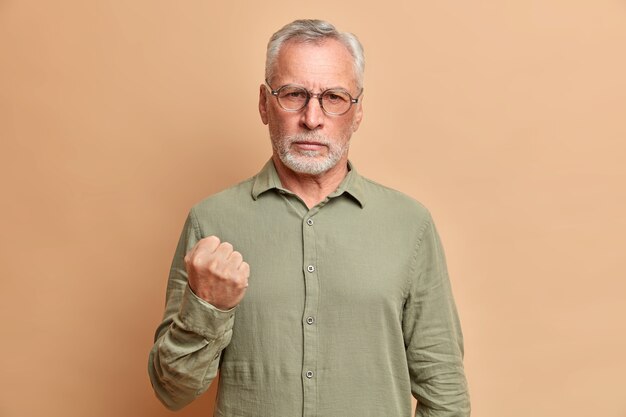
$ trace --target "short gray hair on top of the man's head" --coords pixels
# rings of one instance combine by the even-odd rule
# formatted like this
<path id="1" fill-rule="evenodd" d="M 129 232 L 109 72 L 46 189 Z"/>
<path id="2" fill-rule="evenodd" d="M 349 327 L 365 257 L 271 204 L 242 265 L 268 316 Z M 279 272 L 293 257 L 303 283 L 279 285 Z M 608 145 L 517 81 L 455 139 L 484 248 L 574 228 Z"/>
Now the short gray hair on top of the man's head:
<path id="1" fill-rule="evenodd" d="M 357 88 L 363 87 L 363 72 L 365 71 L 365 56 L 363 46 L 355 35 L 348 32 L 339 32 L 331 23 L 324 20 L 294 20 L 274 33 L 267 44 L 265 58 L 265 79 L 271 80 L 274 75 L 274 66 L 282 46 L 290 40 L 304 43 L 321 43 L 326 39 L 335 39 L 341 42 L 354 59 L 354 74 Z"/>

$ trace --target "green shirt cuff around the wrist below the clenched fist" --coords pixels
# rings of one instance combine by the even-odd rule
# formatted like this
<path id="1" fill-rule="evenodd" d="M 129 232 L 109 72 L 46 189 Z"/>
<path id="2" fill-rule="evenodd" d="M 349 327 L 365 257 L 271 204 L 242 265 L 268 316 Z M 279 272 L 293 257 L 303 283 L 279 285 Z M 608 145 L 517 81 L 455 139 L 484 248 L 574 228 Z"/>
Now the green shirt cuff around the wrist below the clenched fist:
<path id="1" fill-rule="evenodd" d="M 194 294 L 187 284 L 180 305 L 179 318 L 184 329 L 197 333 L 207 340 L 214 340 L 232 330 L 236 308 L 220 310 Z"/>

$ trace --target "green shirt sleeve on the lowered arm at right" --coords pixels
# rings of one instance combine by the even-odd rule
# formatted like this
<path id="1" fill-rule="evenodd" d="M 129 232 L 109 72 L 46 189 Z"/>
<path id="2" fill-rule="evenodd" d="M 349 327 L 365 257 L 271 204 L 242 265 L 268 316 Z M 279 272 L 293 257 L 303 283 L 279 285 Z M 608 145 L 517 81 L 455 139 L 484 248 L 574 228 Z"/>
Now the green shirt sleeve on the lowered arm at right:
<path id="1" fill-rule="evenodd" d="M 430 216 L 420 230 L 403 312 L 403 332 L 418 401 L 416 417 L 467 417 L 463 335 L 446 260 Z"/>

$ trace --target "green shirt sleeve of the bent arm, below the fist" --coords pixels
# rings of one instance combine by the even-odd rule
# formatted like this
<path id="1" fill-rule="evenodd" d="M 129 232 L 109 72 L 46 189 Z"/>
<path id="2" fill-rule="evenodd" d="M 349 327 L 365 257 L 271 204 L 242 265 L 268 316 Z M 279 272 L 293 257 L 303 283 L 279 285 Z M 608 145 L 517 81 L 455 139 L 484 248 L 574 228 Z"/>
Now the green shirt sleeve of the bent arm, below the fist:
<path id="1" fill-rule="evenodd" d="M 217 309 L 197 297 L 187 282 L 184 257 L 200 239 L 191 211 L 174 254 L 165 313 L 148 361 L 154 391 L 171 410 L 181 409 L 207 390 L 232 336 L 234 309 Z"/>

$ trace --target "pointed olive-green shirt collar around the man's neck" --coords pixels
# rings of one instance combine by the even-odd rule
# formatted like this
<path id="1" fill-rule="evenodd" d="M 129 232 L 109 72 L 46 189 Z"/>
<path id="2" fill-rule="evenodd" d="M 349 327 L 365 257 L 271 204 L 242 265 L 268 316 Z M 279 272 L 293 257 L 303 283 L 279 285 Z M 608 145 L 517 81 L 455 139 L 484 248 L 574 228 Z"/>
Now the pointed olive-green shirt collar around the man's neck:
<path id="1" fill-rule="evenodd" d="M 330 195 L 329 198 L 339 197 L 343 193 L 350 195 L 354 201 L 363 208 L 365 206 L 365 193 L 363 191 L 363 177 L 354 168 L 354 165 L 348 161 L 348 175 L 341 181 L 339 187 Z M 274 162 L 270 159 L 267 161 L 263 169 L 254 178 L 254 184 L 252 185 L 252 198 L 257 200 L 259 196 L 266 191 L 276 189 L 289 192 L 285 189 L 278 177 Z"/>

